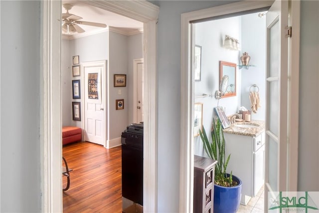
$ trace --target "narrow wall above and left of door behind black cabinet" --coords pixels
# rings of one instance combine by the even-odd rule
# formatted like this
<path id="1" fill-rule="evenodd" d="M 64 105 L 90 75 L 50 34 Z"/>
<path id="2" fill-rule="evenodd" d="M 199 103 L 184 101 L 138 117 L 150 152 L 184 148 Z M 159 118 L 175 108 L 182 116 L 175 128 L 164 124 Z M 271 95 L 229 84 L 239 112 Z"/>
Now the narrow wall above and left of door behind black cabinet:
<path id="1" fill-rule="evenodd" d="M 128 36 L 128 75 L 127 87 L 129 91 L 128 103 L 129 124 L 133 123 L 133 60 L 143 58 L 143 33 Z"/>

